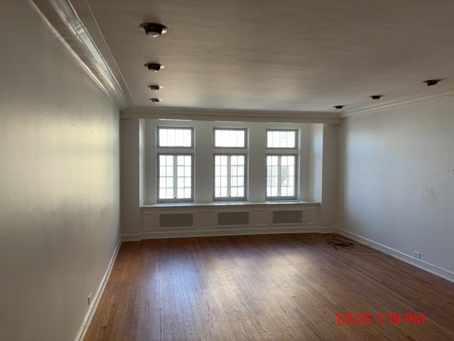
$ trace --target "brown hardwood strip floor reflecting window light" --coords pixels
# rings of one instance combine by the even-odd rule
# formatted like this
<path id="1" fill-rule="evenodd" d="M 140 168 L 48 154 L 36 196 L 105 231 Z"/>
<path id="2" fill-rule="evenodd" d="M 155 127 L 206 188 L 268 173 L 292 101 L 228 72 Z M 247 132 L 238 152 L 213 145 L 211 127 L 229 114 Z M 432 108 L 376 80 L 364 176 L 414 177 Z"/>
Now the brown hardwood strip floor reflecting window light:
<path id="1" fill-rule="evenodd" d="M 85 340 L 454 340 L 454 283 L 322 234 L 125 242 Z"/>

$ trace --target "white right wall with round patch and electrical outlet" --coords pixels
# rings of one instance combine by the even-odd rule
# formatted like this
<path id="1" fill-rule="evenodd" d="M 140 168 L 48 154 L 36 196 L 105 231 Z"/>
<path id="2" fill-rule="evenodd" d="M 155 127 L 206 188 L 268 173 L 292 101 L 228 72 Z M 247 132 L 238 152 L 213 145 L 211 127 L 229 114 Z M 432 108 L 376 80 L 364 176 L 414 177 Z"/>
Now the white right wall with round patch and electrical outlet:
<path id="1" fill-rule="evenodd" d="M 451 272 L 453 107 L 450 97 L 351 117 L 339 139 L 343 229 Z"/>

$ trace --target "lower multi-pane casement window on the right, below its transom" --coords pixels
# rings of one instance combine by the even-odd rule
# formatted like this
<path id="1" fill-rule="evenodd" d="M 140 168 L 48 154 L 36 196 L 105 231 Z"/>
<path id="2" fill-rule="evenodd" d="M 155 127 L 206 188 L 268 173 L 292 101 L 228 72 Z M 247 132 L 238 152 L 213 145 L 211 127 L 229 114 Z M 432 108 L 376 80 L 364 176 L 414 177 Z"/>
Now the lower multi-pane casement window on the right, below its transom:
<path id="1" fill-rule="evenodd" d="M 267 155 L 267 198 L 297 198 L 296 164 L 296 155 Z"/>

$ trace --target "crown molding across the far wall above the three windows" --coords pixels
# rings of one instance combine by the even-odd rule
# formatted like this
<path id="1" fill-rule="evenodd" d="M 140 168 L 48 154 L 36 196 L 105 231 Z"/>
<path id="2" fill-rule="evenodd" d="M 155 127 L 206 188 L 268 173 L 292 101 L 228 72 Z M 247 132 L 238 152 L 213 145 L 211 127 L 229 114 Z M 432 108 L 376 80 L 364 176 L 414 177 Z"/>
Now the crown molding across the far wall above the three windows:
<path id="1" fill-rule="evenodd" d="M 131 107 L 121 111 L 122 119 L 190 119 L 194 121 L 259 121 L 339 124 L 335 112 L 283 112 L 183 107 Z"/>

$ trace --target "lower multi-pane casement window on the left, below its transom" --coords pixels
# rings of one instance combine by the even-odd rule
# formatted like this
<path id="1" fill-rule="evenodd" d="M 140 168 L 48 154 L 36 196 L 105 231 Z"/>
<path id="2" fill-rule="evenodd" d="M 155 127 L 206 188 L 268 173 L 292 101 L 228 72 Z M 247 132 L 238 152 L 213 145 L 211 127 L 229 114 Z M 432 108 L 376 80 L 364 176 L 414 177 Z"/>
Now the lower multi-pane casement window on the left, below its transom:
<path id="1" fill-rule="evenodd" d="M 192 155 L 158 154 L 157 200 L 192 201 Z"/>

